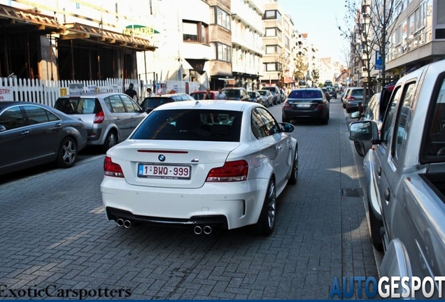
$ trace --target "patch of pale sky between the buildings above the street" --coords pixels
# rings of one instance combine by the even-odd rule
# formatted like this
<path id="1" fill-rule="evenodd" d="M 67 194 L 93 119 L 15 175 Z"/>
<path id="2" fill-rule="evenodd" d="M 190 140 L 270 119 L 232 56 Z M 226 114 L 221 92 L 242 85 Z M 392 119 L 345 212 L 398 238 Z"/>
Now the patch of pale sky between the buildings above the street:
<path id="1" fill-rule="evenodd" d="M 318 48 L 320 57 L 332 62 L 345 62 L 347 41 L 340 36 L 346 15 L 344 0 L 278 0 L 285 13 L 292 17 L 299 33 L 307 33 L 309 43 Z"/>

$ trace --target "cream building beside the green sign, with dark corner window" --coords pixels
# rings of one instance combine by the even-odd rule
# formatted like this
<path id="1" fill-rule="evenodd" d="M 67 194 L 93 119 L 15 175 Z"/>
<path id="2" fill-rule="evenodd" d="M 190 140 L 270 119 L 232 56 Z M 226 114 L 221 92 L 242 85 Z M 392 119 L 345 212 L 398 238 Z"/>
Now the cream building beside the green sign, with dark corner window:
<path id="1" fill-rule="evenodd" d="M 151 36 L 157 50 L 137 54 L 139 78 L 196 81 L 200 89 L 209 87 L 210 60 L 216 55 L 209 10 L 215 8 L 202 0 L 150 2 L 151 9 L 144 13 L 153 24 Z"/>

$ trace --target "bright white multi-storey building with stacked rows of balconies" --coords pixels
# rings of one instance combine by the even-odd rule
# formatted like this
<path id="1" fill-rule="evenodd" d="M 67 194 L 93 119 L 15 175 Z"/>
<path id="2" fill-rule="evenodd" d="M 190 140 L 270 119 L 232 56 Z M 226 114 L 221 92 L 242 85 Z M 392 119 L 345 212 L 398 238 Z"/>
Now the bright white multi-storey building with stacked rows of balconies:
<path id="1" fill-rule="evenodd" d="M 236 87 L 258 89 L 264 75 L 264 0 L 232 0 L 232 75 Z"/>

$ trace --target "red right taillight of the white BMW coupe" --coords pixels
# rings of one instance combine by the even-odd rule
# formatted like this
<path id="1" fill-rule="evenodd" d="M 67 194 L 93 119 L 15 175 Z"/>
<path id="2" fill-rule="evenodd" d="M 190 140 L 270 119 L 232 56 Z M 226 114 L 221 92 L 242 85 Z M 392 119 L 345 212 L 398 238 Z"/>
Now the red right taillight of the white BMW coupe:
<path id="1" fill-rule="evenodd" d="M 207 175 L 207 182 L 235 182 L 247 180 L 249 165 L 245 160 L 226 161 L 224 166 L 213 168 Z"/>

